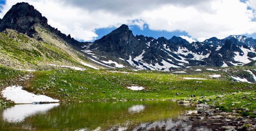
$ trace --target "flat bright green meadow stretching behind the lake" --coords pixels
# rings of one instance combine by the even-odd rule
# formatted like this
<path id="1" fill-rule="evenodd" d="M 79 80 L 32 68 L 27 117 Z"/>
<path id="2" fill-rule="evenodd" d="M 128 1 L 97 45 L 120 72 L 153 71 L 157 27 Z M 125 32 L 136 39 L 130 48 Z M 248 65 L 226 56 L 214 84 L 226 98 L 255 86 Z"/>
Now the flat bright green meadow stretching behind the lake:
<path id="1" fill-rule="evenodd" d="M 37 94 L 47 94 L 63 101 L 111 101 L 140 99 L 183 99 L 201 92 L 205 96 L 249 91 L 254 84 L 220 80 L 204 74 L 172 75 L 168 73 L 112 73 L 106 70 L 76 71 L 68 69 L 34 72 L 35 78 L 26 87 Z M 183 77 L 208 80 L 184 80 Z M 132 91 L 127 86 L 143 86 L 142 91 Z M 176 92 L 183 94 L 176 96 Z"/>

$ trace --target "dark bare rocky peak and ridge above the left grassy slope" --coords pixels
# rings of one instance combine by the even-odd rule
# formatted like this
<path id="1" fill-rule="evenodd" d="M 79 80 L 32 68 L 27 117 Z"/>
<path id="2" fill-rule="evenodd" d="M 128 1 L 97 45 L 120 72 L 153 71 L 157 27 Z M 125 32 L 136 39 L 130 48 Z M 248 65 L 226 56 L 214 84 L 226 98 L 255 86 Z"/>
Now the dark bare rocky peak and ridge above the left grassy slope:
<path id="1" fill-rule="evenodd" d="M 47 21 L 47 18 L 43 17 L 42 14 L 32 5 L 21 2 L 13 5 L 12 8 L 4 15 L 0 23 L 0 31 L 12 29 L 26 34 L 29 37 L 37 38 L 37 40 L 42 40 L 42 36 L 38 34 L 37 29 L 43 28 L 74 47 L 79 48 L 81 44 L 84 44 L 84 42 L 76 41 L 74 38 L 71 38 L 70 35 L 66 36 L 58 29 L 48 25 Z"/>

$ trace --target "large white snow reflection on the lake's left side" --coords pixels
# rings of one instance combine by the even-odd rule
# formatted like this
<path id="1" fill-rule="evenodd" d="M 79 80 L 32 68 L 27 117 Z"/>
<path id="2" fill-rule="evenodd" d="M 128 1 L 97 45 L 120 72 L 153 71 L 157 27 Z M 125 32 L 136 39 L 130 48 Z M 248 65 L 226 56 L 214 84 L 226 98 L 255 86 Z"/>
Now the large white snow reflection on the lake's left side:
<path id="1" fill-rule="evenodd" d="M 11 108 L 7 108 L 3 111 L 2 116 L 5 121 L 8 122 L 21 122 L 26 117 L 33 116 L 39 113 L 45 113 L 48 110 L 59 106 L 59 103 L 51 103 L 51 104 L 22 104 L 22 105 L 14 105 Z"/>

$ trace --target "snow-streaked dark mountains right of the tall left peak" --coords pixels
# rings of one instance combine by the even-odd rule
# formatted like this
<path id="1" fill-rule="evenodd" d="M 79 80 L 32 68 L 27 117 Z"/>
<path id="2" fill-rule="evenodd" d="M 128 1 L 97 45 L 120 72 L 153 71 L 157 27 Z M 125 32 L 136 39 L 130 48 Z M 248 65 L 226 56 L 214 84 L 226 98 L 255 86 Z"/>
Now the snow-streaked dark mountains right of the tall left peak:
<path id="1" fill-rule="evenodd" d="M 189 43 L 176 36 L 169 40 L 134 36 L 127 25 L 122 25 L 103 38 L 83 45 L 82 51 L 98 62 L 112 61 L 137 69 L 169 71 L 187 66 L 227 67 L 256 60 L 255 47 L 249 39 L 252 38 L 232 35 L 222 40 L 212 37 L 204 42 Z"/>

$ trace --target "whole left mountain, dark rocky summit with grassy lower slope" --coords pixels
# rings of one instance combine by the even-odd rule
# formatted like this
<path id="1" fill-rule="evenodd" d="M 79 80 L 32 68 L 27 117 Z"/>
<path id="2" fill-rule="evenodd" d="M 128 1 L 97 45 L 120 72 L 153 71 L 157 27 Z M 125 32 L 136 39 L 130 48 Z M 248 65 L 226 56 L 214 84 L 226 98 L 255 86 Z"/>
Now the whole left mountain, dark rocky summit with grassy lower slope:
<path id="1" fill-rule="evenodd" d="M 90 66 L 80 52 L 86 42 L 76 41 L 48 25 L 47 18 L 28 3 L 13 5 L 1 19 L 0 31 L 2 65 L 33 70 L 48 68 L 49 64 Z"/>

